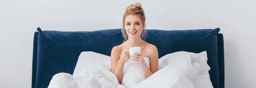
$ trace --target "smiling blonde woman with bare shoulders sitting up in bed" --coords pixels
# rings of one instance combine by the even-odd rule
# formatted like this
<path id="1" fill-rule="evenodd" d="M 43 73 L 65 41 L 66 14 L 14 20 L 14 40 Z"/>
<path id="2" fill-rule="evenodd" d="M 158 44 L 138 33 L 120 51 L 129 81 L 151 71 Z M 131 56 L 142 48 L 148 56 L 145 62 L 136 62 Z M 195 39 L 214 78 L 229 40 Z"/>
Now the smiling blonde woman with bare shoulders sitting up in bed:
<path id="1" fill-rule="evenodd" d="M 124 42 L 113 47 L 111 51 L 111 72 L 116 75 L 119 84 L 122 81 L 122 75 L 125 63 L 130 59 L 140 63 L 143 67 L 145 78 L 150 77 L 158 71 L 158 52 L 157 47 L 143 41 L 145 38 L 145 13 L 140 3 L 129 5 L 122 20 L 122 35 Z M 131 55 L 127 51 L 129 47 L 140 47 L 141 53 Z M 144 57 L 150 58 L 150 68 L 147 66 Z"/>

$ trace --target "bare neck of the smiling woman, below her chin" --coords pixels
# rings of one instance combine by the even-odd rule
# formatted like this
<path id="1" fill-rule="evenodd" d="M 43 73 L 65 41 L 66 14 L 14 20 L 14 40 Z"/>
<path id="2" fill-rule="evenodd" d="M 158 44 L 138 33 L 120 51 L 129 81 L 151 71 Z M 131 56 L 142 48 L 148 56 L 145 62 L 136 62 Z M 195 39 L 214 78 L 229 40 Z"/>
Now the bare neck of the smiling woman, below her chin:
<path id="1" fill-rule="evenodd" d="M 142 39 L 141 38 L 129 38 L 127 40 L 127 45 L 128 47 L 139 47 L 142 43 Z"/>

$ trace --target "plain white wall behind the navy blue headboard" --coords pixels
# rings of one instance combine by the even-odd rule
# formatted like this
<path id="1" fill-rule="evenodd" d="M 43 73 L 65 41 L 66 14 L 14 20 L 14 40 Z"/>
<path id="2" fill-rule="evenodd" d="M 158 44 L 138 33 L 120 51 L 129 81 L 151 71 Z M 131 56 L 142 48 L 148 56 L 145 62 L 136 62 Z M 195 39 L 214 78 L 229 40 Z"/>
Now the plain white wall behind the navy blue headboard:
<path id="1" fill-rule="evenodd" d="M 33 34 L 120 28 L 136 0 L 0 0 L 0 88 L 30 88 Z M 256 86 L 256 0 L 140 0 L 147 29 L 220 27 L 226 88 Z"/>

